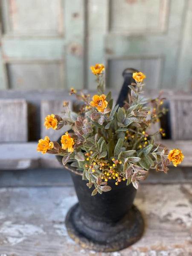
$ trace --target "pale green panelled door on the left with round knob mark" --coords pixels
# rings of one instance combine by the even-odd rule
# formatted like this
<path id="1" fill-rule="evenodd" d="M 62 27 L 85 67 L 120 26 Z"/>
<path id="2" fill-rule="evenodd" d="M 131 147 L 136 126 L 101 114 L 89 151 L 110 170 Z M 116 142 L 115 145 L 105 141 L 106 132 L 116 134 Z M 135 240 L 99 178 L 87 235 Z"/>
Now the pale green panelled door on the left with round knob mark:
<path id="1" fill-rule="evenodd" d="M 82 88 L 84 0 L 1 0 L 0 89 Z"/>

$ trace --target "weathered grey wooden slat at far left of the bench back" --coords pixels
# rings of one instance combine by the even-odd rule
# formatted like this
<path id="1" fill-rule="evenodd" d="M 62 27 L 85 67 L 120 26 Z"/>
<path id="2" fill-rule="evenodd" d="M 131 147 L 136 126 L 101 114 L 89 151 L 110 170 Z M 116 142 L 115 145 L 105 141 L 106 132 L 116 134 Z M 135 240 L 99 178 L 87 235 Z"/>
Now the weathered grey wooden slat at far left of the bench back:
<path id="1" fill-rule="evenodd" d="M 28 140 L 27 103 L 24 99 L 1 99 L 0 120 L 0 142 Z"/>

